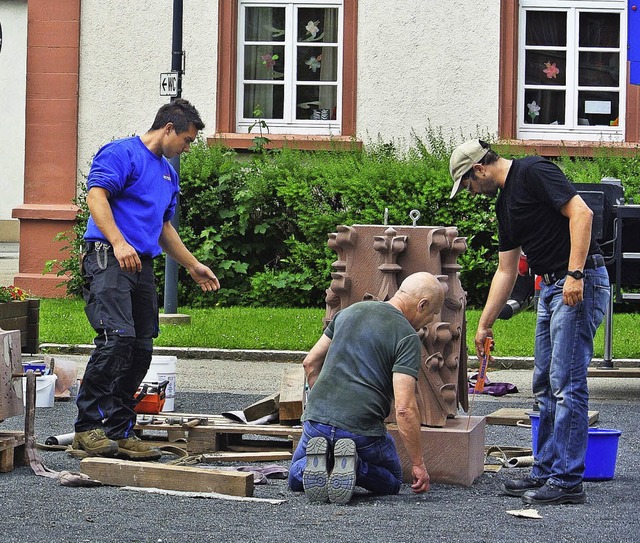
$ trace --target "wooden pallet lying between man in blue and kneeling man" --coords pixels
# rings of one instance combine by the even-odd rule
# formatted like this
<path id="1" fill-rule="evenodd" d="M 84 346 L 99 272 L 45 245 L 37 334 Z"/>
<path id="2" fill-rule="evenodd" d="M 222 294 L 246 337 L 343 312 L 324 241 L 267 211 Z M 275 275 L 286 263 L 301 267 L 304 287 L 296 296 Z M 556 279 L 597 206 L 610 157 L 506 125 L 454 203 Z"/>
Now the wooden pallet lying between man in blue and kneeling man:
<path id="1" fill-rule="evenodd" d="M 221 451 L 280 451 L 286 452 L 285 456 L 288 456 L 295 450 L 302 435 L 300 426 L 242 424 L 221 415 L 161 413 L 155 418 L 156 420 L 150 424 L 136 424 L 134 429 L 140 438 L 158 445 L 171 444 L 183 447 L 190 455 Z M 185 427 L 184 424 L 168 424 L 167 418 L 206 419 L 206 423 Z"/>

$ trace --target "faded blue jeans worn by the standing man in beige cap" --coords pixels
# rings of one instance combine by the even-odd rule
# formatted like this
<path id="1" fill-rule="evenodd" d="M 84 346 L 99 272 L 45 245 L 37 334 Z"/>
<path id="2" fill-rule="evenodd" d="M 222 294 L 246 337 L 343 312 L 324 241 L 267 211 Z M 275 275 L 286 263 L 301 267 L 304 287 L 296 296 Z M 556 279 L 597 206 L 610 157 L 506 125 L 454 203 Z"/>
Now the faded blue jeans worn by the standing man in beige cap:
<path id="1" fill-rule="evenodd" d="M 582 482 L 589 432 L 587 367 L 593 338 L 609 304 L 605 267 L 585 269 L 583 300 L 562 302 L 565 279 L 541 283 L 533 393 L 540 407 L 531 476 L 570 488 Z"/>

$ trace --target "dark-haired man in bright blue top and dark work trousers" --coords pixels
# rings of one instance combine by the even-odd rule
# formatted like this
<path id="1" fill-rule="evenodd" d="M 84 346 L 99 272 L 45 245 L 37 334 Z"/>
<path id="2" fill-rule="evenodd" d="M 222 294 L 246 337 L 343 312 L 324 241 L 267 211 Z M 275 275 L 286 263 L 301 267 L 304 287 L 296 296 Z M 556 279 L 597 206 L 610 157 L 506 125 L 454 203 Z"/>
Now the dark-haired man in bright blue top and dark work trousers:
<path id="1" fill-rule="evenodd" d="M 164 250 L 203 291 L 220 288 L 170 222 L 180 187 L 167 159 L 189 151 L 203 128 L 196 108 L 177 99 L 158 110 L 143 136 L 108 143 L 93 160 L 82 271 L 85 312 L 97 335 L 78 392 L 71 454 L 162 455 L 133 433 L 134 396 L 159 331 L 153 259 Z"/>

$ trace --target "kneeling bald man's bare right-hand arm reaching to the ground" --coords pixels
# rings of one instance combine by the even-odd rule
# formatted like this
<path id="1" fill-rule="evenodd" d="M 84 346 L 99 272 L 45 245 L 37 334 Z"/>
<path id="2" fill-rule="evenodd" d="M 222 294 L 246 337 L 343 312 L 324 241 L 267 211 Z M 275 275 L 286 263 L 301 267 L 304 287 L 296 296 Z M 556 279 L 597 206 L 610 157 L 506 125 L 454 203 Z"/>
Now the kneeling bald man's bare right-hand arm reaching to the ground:
<path id="1" fill-rule="evenodd" d="M 422 436 L 420 432 L 420 412 L 416 400 L 416 380 L 405 373 L 393 374 L 393 394 L 396 406 L 398 431 L 411 460 L 414 492 L 429 490 L 429 473 L 422 455 Z"/>

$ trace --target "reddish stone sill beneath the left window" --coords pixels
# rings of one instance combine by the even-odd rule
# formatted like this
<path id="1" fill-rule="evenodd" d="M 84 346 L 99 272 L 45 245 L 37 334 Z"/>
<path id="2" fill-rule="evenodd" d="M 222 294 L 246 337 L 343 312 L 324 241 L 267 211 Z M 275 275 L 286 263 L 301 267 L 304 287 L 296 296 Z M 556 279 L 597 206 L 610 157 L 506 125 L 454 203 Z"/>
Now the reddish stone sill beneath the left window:
<path id="1" fill-rule="evenodd" d="M 207 137 L 209 145 L 222 144 L 232 149 L 248 149 L 257 134 L 220 132 Z M 300 136 L 292 134 L 267 134 L 267 149 L 300 149 L 303 151 L 354 151 L 362 149 L 362 141 L 350 136 Z"/>

